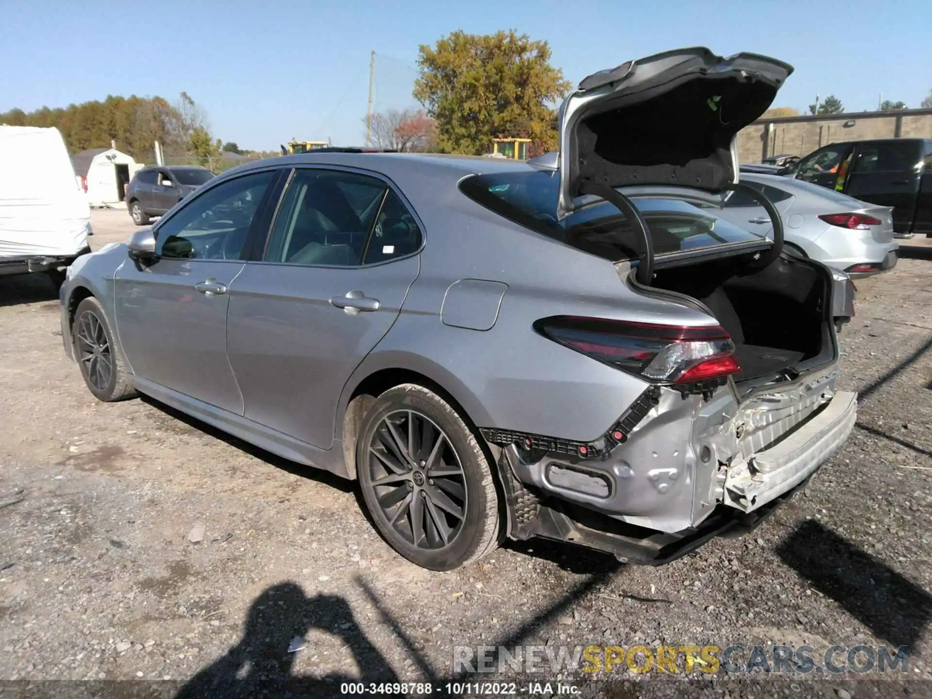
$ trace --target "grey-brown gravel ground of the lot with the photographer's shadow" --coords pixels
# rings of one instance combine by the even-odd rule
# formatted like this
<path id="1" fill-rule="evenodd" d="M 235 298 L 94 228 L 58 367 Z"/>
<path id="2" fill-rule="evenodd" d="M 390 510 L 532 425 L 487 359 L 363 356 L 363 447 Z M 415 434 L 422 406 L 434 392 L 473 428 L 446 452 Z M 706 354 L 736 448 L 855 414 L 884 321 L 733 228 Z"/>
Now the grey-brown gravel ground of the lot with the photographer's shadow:
<path id="1" fill-rule="evenodd" d="M 93 226 L 95 248 L 133 227 L 126 212 L 94 212 Z M 858 283 L 842 334 L 857 428 L 748 537 L 660 569 L 513 543 L 451 573 L 394 555 L 352 484 L 153 401 L 98 403 L 62 353 L 45 281 L 2 279 L 0 505 L 22 499 L 0 509 L 0 680 L 328 696 L 363 678 L 444 693 L 455 646 L 788 643 L 817 656 L 864 643 L 910 646 L 908 674 L 563 676 L 593 696 L 932 694 L 930 272 L 906 259 Z M 0 682 L 0 695 L 24 686 Z"/>

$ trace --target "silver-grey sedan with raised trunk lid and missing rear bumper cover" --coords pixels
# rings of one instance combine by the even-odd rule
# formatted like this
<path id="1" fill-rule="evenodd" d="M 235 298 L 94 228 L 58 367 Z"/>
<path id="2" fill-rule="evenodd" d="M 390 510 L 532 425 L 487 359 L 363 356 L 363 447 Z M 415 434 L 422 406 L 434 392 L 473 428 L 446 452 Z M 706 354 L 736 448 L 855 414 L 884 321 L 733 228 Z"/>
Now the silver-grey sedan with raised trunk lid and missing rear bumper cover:
<path id="1" fill-rule="evenodd" d="M 779 223 L 703 208 L 757 191 L 734 135 L 791 71 L 689 48 L 590 75 L 552 167 L 228 171 L 70 267 L 65 351 L 102 401 L 142 392 L 358 480 L 421 566 L 534 536 L 672 560 L 755 526 L 855 421 L 846 287 L 783 254 Z"/>

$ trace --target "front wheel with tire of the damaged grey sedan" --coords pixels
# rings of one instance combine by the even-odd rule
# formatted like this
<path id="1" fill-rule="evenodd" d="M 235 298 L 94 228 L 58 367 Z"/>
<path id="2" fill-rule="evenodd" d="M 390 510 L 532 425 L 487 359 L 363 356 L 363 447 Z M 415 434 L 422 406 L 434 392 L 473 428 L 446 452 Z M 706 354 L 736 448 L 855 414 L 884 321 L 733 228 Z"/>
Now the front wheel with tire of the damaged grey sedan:
<path id="1" fill-rule="evenodd" d="M 130 386 L 130 372 L 114 343 L 110 323 L 103 314 L 103 306 L 93 296 L 77 305 L 71 337 L 75 361 L 81 367 L 84 383 L 95 398 L 112 403 L 136 396 L 136 390 Z"/>

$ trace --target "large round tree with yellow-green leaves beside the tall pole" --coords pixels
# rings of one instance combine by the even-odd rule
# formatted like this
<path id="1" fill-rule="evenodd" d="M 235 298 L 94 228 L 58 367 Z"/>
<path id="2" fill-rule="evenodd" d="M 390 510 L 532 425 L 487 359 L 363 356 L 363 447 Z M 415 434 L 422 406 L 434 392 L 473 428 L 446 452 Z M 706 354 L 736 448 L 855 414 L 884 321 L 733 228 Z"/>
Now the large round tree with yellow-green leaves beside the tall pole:
<path id="1" fill-rule="evenodd" d="M 570 85 L 550 58 L 546 41 L 514 30 L 422 45 L 414 96 L 436 120 L 438 150 L 481 155 L 499 134 L 555 149 L 553 105 Z"/>

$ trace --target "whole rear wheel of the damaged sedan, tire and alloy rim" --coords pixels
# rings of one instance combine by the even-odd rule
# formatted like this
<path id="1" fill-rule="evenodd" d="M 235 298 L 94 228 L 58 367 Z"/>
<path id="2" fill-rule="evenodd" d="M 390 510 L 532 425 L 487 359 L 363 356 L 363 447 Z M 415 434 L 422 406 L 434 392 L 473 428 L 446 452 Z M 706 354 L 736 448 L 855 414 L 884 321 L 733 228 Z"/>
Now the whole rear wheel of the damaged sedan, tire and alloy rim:
<path id="1" fill-rule="evenodd" d="M 450 570 L 499 544 L 499 498 L 473 432 L 417 384 L 385 391 L 363 418 L 356 469 L 379 533 L 418 566 Z"/>

